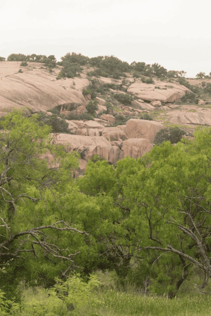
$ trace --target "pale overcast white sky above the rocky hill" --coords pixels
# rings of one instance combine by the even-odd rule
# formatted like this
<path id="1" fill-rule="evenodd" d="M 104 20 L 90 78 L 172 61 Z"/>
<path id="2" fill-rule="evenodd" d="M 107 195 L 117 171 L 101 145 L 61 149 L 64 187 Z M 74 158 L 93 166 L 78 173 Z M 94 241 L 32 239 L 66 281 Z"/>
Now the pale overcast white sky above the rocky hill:
<path id="1" fill-rule="evenodd" d="M 186 78 L 211 72 L 207 0 L 10 0 L 0 3 L 0 56 L 115 56 Z"/>

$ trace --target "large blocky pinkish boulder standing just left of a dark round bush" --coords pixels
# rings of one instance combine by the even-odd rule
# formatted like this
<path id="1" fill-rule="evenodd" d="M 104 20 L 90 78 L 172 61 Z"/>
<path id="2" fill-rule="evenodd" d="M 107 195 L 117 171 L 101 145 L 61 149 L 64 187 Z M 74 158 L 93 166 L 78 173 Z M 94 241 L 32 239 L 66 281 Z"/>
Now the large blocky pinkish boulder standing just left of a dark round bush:
<path id="1" fill-rule="evenodd" d="M 129 119 L 126 123 L 125 132 L 129 138 L 146 138 L 153 143 L 156 133 L 164 126 L 156 121 L 143 119 Z"/>

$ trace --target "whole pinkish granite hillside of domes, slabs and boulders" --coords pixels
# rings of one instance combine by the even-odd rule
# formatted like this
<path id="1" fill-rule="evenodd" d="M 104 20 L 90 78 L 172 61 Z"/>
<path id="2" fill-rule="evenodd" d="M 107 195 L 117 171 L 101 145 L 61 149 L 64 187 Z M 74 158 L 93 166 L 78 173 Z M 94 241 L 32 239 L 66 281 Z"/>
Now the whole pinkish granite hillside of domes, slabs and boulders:
<path id="1" fill-rule="evenodd" d="M 0 116 L 13 107 L 25 106 L 31 112 L 41 111 L 47 115 L 52 115 L 47 110 L 60 106 L 60 114 L 66 117 L 70 112 L 78 115 L 87 112 L 85 107 L 91 96 L 82 94 L 83 89 L 90 85 L 87 67 L 82 66 L 80 76 L 56 80 L 61 66 L 49 73 L 45 68 L 40 69 L 43 66 L 40 63 L 29 63 L 30 67 L 21 67 L 20 64 L 0 62 Z M 152 149 L 156 133 L 164 126 L 177 125 L 191 136 L 195 126 L 211 125 L 211 109 L 203 100 L 201 105 L 178 105 L 182 96 L 192 92 L 176 80 L 171 79 L 169 83 L 168 80 L 153 78 L 153 84 L 146 84 L 139 78 L 134 80 L 131 74 L 126 75 L 120 80 L 95 78 L 98 85 L 115 83 L 117 89 L 110 88 L 107 93 L 98 93 L 96 115 L 99 115 L 94 121 L 66 119 L 71 134 L 57 135 L 57 143 L 68 145 L 70 152 L 76 150 L 81 153 L 83 159 L 80 159 L 78 175 L 84 173 L 88 159 L 94 154 L 113 164 L 127 155 L 135 159 L 140 157 Z M 130 95 L 133 100 L 125 105 L 114 98 L 115 94 Z M 113 104 L 114 108 L 110 114 L 100 115 L 107 109 L 106 102 Z M 140 119 L 140 115 L 146 112 L 150 113 L 154 121 Z M 126 124 L 109 127 L 115 124 L 116 114 L 128 118 Z"/>

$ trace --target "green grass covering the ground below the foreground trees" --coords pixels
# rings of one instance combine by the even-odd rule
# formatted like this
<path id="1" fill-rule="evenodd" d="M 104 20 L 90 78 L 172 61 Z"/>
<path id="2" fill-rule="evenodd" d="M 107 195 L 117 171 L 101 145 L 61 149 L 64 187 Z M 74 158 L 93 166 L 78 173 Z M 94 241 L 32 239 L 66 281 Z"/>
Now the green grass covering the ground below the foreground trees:
<path id="1" fill-rule="evenodd" d="M 211 309 L 211 297 L 207 294 L 206 300 L 193 287 L 188 290 L 187 283 L 174 299 L 168 299 L 167 293 L 162 297 L 140 293 L 134 285 L 128 282 L 125 289 L 117 286 L 112 272 L 96 271 L 102 286 L 90 294 L 89 304 L 81 302 L 78 308 L 70 313 L 72 316 L 208 316 Z M 187 282 L 187 281 L 186 281 Z M 192 284 L 192 280 L 189 281 Z M 181 286 L 182 288 L 182 286 Z M 209 290 L 209 289 L 208 289 Z M 186 291 L 186 292 L 185 292 Z M 187 293 L 186 295 L 184 293 Z M 60 315 L 66 314 L 67 306 L 58 297 L 49 296 L 42 287 L 22 290 L 22 313 L 13 313 L 14 316 L 32 315 Z M 99 303 L 93 303 L 94 299 Z M 38 310 L 43 313 L 38 313 Z M 62 310 L 59 314 L 59 311 Z"/>

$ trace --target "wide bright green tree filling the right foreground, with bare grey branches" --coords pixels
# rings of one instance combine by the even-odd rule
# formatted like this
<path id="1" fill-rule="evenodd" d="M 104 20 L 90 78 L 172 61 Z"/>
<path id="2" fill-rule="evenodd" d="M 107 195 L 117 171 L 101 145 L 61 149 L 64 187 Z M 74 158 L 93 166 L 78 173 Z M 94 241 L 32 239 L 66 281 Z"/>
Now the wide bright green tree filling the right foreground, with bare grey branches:
<path id="1" fill-rule="evenodd" d="M 126 157 L 116 167 L 90 161 L 78 180 L 80 190 L 101 200 L 96 204 L 107 223 L 96 221 L 95 230 L 101 232 L 103 253 L 125 262 L 115 264 L 117 273 L 130 272 L 127 262 L 133 256 L 152 269 L 149 289 L 158 294 L 168 291 L 171 298 L 188 276 L 196 274 L 195 268 L 204 273 L 197 284 L 202 294 L 211 276 L 210 135 L 210 127 L 199 127 L 194 142 L 173 146 L 167 141 L 140 161 Z M 106 213 L 108 201 L 113 201 L 112 224 Z"/>

